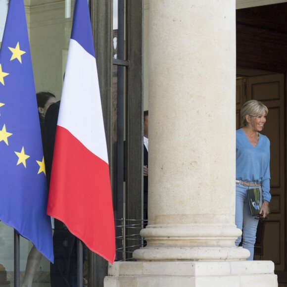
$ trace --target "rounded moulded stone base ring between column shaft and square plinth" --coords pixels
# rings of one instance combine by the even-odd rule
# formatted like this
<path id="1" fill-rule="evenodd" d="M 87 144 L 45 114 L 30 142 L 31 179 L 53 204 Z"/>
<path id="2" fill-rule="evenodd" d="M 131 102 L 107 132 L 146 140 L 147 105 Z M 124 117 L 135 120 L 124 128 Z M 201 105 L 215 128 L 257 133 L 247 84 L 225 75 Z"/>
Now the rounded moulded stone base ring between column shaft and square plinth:
<path id="1" fill-rule="evenodd" d="M 187 218 L 196 223 L 180 223 Z M 160 220 L 172 220 L 176 224 L 164 224 Z M 235 224 L 228 224 L 217 215 L 213 215 L 211 220 L 220 223 L 199 224 L 199 220 L 210 221 L 210 218 L 201 216 L 198 219 L 192 215 L 190 218 L 157 218 L 156 224 L 149 224 L 141 230 L 147 245 L 136 249 L 133 258 L 138 261 L 220 261 L 245 260 L 250 256 L 247 249 L 235 246 L 235 240 L 241 235 Z"/>

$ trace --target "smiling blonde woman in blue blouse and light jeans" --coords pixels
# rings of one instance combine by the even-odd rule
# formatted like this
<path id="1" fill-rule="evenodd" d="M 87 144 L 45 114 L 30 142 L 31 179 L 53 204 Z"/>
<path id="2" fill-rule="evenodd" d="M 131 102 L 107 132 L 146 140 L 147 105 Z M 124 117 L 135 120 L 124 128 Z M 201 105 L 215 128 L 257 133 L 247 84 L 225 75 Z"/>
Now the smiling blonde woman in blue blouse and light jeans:
<path id="1" fill-rule="evenodd" d="M 249 100 L 241 108 L 242 128 L 236 131 L 236 226 L 242 230 L 242 247 L 253 260 L 258 219 L 251 217 L 247 190 L 259 188 L 263 193 L 260 216 L 268 215 L 270 194 L 270 141 L 261 135 L 268 108 L 260 101 Z M 241 236 L 236 240 L 239 245 Z"/>

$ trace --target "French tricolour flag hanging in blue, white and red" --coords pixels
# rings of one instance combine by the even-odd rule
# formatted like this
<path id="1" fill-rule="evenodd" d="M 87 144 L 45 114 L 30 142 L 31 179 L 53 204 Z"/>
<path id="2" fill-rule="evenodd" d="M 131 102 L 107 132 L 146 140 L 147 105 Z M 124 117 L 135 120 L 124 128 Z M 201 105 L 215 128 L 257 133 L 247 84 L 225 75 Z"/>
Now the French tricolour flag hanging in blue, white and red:
<path id="1" fill-rule="evenodd" d="M 109 165 L 87 0 L 75 1 L 47 213 L 114 262 Z"/>

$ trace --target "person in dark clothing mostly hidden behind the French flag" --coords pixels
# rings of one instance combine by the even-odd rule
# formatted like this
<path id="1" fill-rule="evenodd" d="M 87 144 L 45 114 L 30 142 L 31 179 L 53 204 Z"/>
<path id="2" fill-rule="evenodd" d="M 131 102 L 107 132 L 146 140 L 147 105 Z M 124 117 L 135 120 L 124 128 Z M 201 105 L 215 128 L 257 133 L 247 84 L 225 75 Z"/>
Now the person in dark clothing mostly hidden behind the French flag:
<path id="1" fill-rule="evenodd" d="M 55 135 L 60 101 L 51 104 L 46 112 L 46 173 L 48 183 L 51 175 Z M 68 228 L 54 219 L 54 264 L 50 264 L 51 287 L 77 287 L 77 240 Z"/>

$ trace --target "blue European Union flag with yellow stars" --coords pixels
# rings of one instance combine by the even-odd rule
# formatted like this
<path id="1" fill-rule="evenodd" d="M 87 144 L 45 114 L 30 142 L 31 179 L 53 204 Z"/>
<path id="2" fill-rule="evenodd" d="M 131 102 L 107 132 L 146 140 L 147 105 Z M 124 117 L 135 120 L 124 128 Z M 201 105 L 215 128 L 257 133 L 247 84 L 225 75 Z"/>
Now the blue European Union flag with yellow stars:
<path id="1" fill-rule="evenodd" d="M 53 262 L 40 122 L 23 0 L 10 0 L 0 48 L 0 220 Z"/>

